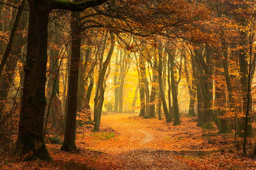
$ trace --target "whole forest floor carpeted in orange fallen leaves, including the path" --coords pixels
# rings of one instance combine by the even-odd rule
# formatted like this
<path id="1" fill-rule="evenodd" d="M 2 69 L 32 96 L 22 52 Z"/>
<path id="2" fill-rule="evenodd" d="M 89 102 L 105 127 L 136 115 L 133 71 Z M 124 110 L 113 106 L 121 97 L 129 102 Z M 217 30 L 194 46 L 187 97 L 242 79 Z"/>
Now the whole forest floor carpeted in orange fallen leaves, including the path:
<path id="1" fill-rule="evenodd" d="M 234 134 L 217 134 L 214 130 L 204 136 L 196 127 L 196 117 L 181 117 L 181 125 L 173 126 L 158 118 L 108 113 L 102 115 L 101 122 L 100 132 L 92 132 L 91 124 L 78 129 L 76 152 L 60 151 L 61 142 L 50 141 L 58 143 L 63 136 L 51 134 L 46 147 L 52 162 L 8 158 L 0 161 L 0 169 L 256 169 L 256 159 L 243 156 L 242 143 L 233 142 Z M 254 138 L 248 140 L 248 148 L 253 148 Z"/>

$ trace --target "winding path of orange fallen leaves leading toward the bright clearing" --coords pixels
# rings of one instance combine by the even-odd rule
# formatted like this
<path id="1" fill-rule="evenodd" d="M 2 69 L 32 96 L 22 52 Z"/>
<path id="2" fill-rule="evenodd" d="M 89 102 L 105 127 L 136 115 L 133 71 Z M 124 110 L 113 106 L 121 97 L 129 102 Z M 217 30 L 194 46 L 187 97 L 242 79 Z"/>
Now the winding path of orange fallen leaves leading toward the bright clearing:
<path id="1" fill-rule="evenodd" d="M 176 155 L 177 151 L 185 149 L 182 146 L 185 143 L 179 141 L 182 140 L 181 135 L 190 133 L 186 127 L 180 128 L 166 124 L 164 120 L 159 121 L 158 118 L 142 119 L 137 114 L 108 114 L 102 115 L 101 132 L 97 132 L 98 135 L 87 132 L 83 142 L 91 150 L 107 153 L 97 158 L 97 162 L 105 161 L 99 169 L 190 169 Z M 115 136 L 98 140 L 100 135 L 109 133 Z M 97 137 L 91 139 L 92 135 Z M 108 162 L 111 162 L 111 167 Z"/>

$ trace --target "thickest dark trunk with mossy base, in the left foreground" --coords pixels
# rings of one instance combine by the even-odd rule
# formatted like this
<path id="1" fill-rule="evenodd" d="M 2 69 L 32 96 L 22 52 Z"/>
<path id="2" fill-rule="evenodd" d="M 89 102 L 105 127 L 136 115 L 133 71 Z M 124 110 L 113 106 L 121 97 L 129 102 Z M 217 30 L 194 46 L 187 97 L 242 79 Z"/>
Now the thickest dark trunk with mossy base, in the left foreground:
<path id="1" fill-rule="evenodd" d="M 50 159 L 43 138 L 49 14 L 49 8 L 41 1 L 30 1 L 27 58 L 24 66 L 24 93 L 19 117 L 17 156 L 32 151 L 33 155 L 29 158 Z"/>

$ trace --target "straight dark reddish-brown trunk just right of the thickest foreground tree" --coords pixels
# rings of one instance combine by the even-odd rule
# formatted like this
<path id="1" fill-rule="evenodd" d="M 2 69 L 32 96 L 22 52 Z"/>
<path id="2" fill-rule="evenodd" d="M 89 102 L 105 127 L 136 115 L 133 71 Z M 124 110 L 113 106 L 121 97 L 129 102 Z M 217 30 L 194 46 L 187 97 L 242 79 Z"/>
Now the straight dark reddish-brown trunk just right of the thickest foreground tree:
<path id="1" fill-rule="evenodd" d="M 80 61 L 80 19 L 79 12 L 71 12 L 71 64 L 70 80 L 68 87 L 68 108 L 64 141 L 61 150 L 71 152 L 76 150 L 76 109 L 77 109 L 77 88 L 78 88 L 78 70 Z"/>

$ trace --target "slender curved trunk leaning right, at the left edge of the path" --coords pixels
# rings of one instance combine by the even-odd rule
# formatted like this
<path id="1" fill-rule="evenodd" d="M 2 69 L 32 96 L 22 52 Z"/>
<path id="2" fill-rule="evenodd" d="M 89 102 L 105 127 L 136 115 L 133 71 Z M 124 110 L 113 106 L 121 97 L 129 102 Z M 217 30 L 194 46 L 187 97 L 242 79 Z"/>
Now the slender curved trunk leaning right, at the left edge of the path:
<path id="1" fill-rule="evenodd" d="M 98 104 L 98 107 L 97 107 L 97 118 L 96 118 L 96 121 L 95 121 L 95 126 L 93 128 L 93 131 L 99 131 L 100 129 L 100 121 L 101 121 L 101 112 L 102 112 L 102 106 L 103 106 L 103 102 L 104 102 L 104 87 L 103 87 L 103 81 L 104 81 L 104 78 L 105 78 L 105 74 L 106 74 L 106 71 L 107 71 L 107 66 L 109 65 L 109 62 L 110 62 L 110 59 L 111 59 L 111 56 L 112 56 L 112 53 L 114 51 L 114 47 L 115 47 L 115 35 L 113 33 L 110 33 L 110 36 L 111 36 L 111 46 L 110 46 L 110 49 L 108 51 L 108 54 L 107 54 L 107 58 L 106 60 L 104 61 L 103 65 L 102 65 L 102 70 L 101 70 L 101 73 L 100 73 L 100 76 L 99 76 L 99 90 L 100 90 L 100 96 L 99 96 L 99 104 Z"/>

